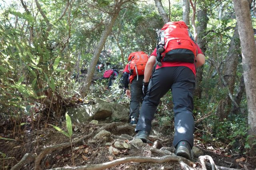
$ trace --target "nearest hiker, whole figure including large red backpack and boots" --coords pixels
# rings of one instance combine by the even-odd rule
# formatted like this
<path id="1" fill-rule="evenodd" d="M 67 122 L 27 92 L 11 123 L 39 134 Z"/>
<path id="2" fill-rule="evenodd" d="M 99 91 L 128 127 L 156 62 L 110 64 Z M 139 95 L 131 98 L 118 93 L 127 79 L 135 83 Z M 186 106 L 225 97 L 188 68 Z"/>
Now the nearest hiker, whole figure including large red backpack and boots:
<path id="1" fill-rule="evenodd" d="M 160 42 L 150 55 L 145 68 L 143 93 L 146 96 L 134 139 L 147 141 L 160 98 L 171 89 L 175 127 L 173 145 L 177 156 L 191 159 L 194 145 L 192 110 L 196 67 L 205 63 L 205 57 L 184 21 L 168 22 L 158 34 Z M 155 64 L 155 71 L 151 75 Z"/>

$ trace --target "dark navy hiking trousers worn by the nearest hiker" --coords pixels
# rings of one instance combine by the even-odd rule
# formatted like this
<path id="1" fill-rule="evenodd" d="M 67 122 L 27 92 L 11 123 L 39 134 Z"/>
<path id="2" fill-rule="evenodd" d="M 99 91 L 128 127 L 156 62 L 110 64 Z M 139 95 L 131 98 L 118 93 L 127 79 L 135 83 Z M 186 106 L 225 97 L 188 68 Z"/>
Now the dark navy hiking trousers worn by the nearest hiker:
<path id="1" fill-rule="evenodd" d="M 154 119 L 156 107 L 160 98 L 172 90 L 174 110 L 174 141 L 176 145 L 180 141 L 188 141 L 191 147 L 194 145 L 194 117 L 192 110 L 193 92 L 195 87 L 195 75 L 185 66 L 162 67 L 156 69 L 150 80 L 147 94 L 140 109 L 140 119 L 135 131 L 151 130 L 151 121 Z"/>

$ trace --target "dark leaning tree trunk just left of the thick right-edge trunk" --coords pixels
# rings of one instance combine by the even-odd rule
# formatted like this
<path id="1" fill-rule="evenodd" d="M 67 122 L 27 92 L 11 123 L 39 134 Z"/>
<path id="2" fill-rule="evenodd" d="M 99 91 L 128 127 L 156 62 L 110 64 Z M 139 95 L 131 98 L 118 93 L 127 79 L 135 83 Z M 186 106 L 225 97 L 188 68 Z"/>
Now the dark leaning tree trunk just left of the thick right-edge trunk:
<path id="1" fill-rule="evenodd" d="M 238 55 L 240 54 L 240 42 L 238 35 L 238 27 L 236 25 L 234 29 L 233 37 L 230 41 L 230 47 L 228 49 L 228 54 L 226 57 L 226 63 L 224 68 L 224 81 L 226 82 L 225 86 L 228 87 L 230 94 L 234 92 L 234 86 L 236 81 L 236 68 L 238 64 Z M 228 118 L 230 113 L 232 101 L 229 95 L 226 96 L 224 100 L 220 102 L 218 107 L 218 117 L 222 121 L 224 118 Z"/>

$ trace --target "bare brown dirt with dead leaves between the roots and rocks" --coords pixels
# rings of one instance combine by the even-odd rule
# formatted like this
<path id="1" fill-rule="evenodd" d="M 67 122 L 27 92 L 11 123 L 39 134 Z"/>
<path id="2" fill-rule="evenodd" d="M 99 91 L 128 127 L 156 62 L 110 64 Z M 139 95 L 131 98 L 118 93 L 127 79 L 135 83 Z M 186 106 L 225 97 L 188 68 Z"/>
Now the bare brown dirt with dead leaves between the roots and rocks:
<path id="1" fill-rule="evenodd" d="M 84 137 L 92 132 L 96 132 L 103 124 L 89 124 L 82 123 L 73 125 L 73 135 L 72 140 L 76 141 L 81 137 Z M 127 123 L 120 122 L 120 125 L 127 125 Z M 64 131 L 66 131 L 65 123 L 62 125 L 58 125 Z M 128 127 L 128 126 L 127 126 Z M 144 156 L 144 157 L 161 157 L 162 155 L 152 154 L 150 152 L 150 148 L 152 147 L 152 143 L 147 143 L 145 147 L 131 149 L 123 149 L 117 155 L 111 155 L 109 152 L 109 147 L 117 141 L 115 139 L 116 136 L 120 136 L 122 134 L 127 134 L 130 136 L 134 136 L 134 131 L 132 128 L 122 129 L 120 131 L 116 131 L 115 129 L 108 129 L 111 132 L 111 137 L 113 138 L 110 141 L 109 145 L 106 145 L 106 142 L 90 142 L 92 137 L 86 140 L 82 140 L 76 143 L 72 150 L 71 147 L 66 147 L 64 149 L 57 149 L 52 152 L 49 152 L 42 158 L 40 167 L 42 169 L 50 169 L 57 168 L 63 166 L 73 166 L 72 161 L 72 151 L 74 156 L 74 166 L 84 166 L 84 165 L 94 165 L 101 164 L 104 162 L 110 162 L 112 160 L 116 160 L 118 158 L 124 158 L 129 156 Z M 153 127 L 154 128 L 154 127 Z M 157 129 L 157 128 L 156 128 Z M 39 155 L 42 152 L 44 147 L 58 145 L 62 143 L 68 143 L 69 138 L 63 135 L 62 133 L 56 131 L 51 126 L 42 127 L 40 129 L 31 130 L 31 127 L 26 127 L 26 129 L 22 129 L 18 133 L 14 133 L 13 130 L 7 127 L 1 127 L 0 137 L 15 139 L 16 141 L 10 140 L 2 140 L 0 139 L 0 152 L 6 154 L 4 159 L 0 160 L 0 167 L 3 170 L 8 170 L 17 164 L 24 154 L 30 153 L 34 155 Z M 171 138 L 169 136 L 169 138 Z M 168 141 L 168 136 L 161 137 L 162 141 L 166 141 L 162 143 L 164 147 L 172 147 L 172 141 Z M 196 139 L 195 139 L 196 140 Z M 127 143 L 129 141 L 126 140 Z M 111 144 L 112 143 L 112 144 Z M 206 149 L 204 146 L 195 146 L 200 148 L 204 155 L 210 155 L 215 164 L 218 166 L 226 167 L 226 168 L 234 168 L 241 170 L 255 170 L 256 169 L 256 158 L 249 158 L 244 155 L 233 153 L 219 153 L 218 149 L 211 148 Z M 240 159 L 238 161 L 238 159 Z M 197 159 L 193 159 L 194 169 L 200 169 L 200 163 L 198 163 Z M 30 163 L 26 163 L 22 165 L 20 169 L 22 170 L 31 170 L 35 166 L 34 161 Z M 182 167 L 178 162 L 166 162 L 162 164 L 158 163 L 136 163 L 130 162 L 125 164 L 116 165 L 112 168 L 108 168 L 108 170 L 181 170 Z M 211 168 L 209 168 L 211 169 Z"/>

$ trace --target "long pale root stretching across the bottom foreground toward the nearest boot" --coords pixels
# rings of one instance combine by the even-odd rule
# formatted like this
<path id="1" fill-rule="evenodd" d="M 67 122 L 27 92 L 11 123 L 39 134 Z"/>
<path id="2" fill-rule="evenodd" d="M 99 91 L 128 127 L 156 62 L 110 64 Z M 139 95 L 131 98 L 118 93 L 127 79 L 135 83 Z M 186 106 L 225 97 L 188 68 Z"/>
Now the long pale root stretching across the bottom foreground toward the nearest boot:
<path id="1" fill-rule="evenodd" d="M 151 158 L 151 157 L 140 157 L 140 156 L 134 156 L 134 157 L 126 157 L 126 158 L 120 158 L 113 160 L 111 162 L 106 162 L 102 164 L 97 165 L 86 165 L 86 166 L 76 166 L 76 167 L 60 167 L 60 168 L 53 168 L 50 170 L 104 170 L 106 168 L 111 168 L 113 166 L 119 165 L 119 164 L 125 164 L 128 162 L 153 162 L 153 163 L 164 163 L 164 162 L 180 162 L 182 160 L 181 157 L 178 156 L 162 156 L 160 158 Z M 185 164 L 185 163 L 184 163 Z M 184 166 L 182 164 L 182 167 Z M 190 169 L 189 169 L 190 170 Z"/>

